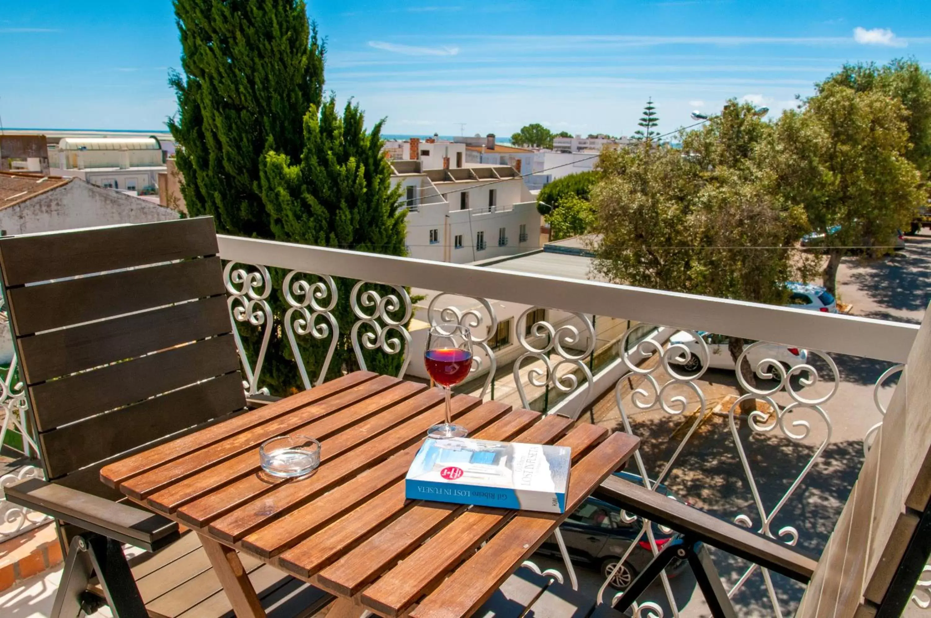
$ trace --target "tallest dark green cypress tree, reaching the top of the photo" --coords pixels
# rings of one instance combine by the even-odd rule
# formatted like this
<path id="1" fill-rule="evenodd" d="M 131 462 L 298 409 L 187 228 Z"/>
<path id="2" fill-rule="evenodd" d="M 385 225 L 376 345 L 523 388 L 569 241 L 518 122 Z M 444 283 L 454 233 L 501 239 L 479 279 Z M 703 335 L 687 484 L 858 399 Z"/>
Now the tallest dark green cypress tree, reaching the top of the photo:
<path id="1" fill-rule="evenodd" d="M 259 195 L 259 160 L 271 147 L 297 157 L 303 118 L 323 93 L 324 45 L 301 0 L 175 0 L 182 74 L 169 84 L 169 129 L 192 216 L 217 229 L 272 237 Z"/>

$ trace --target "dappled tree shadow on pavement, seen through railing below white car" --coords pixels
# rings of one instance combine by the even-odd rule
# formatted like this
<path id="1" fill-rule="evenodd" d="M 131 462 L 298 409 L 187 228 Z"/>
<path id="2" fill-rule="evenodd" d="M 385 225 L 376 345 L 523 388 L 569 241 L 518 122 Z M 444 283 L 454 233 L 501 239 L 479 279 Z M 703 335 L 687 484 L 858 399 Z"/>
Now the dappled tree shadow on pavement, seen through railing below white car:
<path id="1" fill-rule="evenodd" d="M 762 517 L 757 510 L 751 484 L 740 462 L 735 440 L 726 417 L 710 414 L 679 455 L 664 483 L 683 499 L 689 499 L 706 512 L 725 521 L 744 514 L 759 531 Z M 684 423 L 691 423 L 685 419 Z M 646 470 L 655 477 L 679 445 L 673 432 L 683 423 L 681 416 L 664 414 L 657 418 L 640 418 L 632 427 L 641 437 L 641 456 Z M 815 429 L 815 422 L 813 430 Z M 742 419 L 737 421 L 738 435 L 747 453 L 750 471 L 766 513 L 771 513 L 790 485 L 815 455 L 817 444 L 791 440 L 780 432 L 753 431 Z M 813 436 L 815 435 L 813 431 Z M 817 557 L 828 541 L 843 504 L 846 502 L 860 466 L 863 446 L 859 440 L 829 443 L 813 464 L 801 485 L 770 524 L 778 536 L 784 527 L 798 531 L 796 546 Z M 637 472 L 634 464 L 627 471 Z M 789 541 L 789 536 L 783 537 Z M 726 552 L 713 550 L 712 557 L 728 588 L 735 584 L 749 564 Z M 773 573 L 774 587 L 783 611 L 794 612 L 802 598 L 804 586 Z M 758 570 L 735 595 L 740 615 L 772 615 L 773 610 Z"/>

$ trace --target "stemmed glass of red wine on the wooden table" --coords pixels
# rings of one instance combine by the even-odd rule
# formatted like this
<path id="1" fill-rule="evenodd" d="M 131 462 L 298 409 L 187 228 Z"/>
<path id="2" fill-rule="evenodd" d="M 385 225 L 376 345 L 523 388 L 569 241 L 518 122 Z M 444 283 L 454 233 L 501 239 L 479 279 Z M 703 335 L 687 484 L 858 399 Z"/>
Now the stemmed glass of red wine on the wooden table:
<path id="1" fill-rule="evenodd" d="M 435 326 L 426 335 L 426 372 L 446 394 L 446 423 L 430 427 L 427 437 L 466 437 L 468 430 L 452 423 L 452 386 L 466 379 L 472 369 L 472 333 L 465 326 Z"/>

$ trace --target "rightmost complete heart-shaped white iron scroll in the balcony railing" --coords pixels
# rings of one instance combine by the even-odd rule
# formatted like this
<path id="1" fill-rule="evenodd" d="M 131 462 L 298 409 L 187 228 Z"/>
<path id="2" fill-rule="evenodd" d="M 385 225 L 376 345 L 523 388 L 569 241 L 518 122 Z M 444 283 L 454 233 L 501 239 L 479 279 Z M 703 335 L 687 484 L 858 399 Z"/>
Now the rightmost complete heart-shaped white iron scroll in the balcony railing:
<path id="1" fill-rule="evenodd" d="M 817 459 L 821 456 L 824 450 L 828 447 L 830 442 L 831 431 L 833 425 L 830 422 L 830 416 L 828 412 L 822 407 L 823 404 L 827 403 L 831 397 L 837 394 L 837 390 L 840 386 L 840 373 L 837 370 L 837 365 L 834 363 L 834 360 L 818 350 L 808 350 L 808 358 L 810 359 L 812 355 L 819 356 L 830 368 L 830 371 L 833 375 L 833 383 L 831 384 L 830 390 L 827 394 L 820 396 L 806 397 L 803 396 L 803 389 L 814 386 L 816 383 L 821 381 L 821 378 L 818 374 L 817 369 L 808 361 L 801 365 L 796 365 L 791 369 L 786 369 L 775 359 L 772 358 L 763 358 L 757 363 L 756 371 L 758 375 L 762 375 L 764 378 L 770 380 L 776 380 L 775 386 L 770 387 L 757 387 L 750 385 L 747 380 L 744 378 L 740 367 L 747 359 L 748 354 L 756 347 L 763 345 L 762 342 L 751 343 L 744 348 L 743 354 L 737 358 L 737 364 L 735 369 L 735 375 L 737 381 L 740 385 L 747 391 L 746 395 L 739 396 L 735 400 L 735 403 L 731 406 L 731 409 L 728 410 L 728 422 L 731 426 L 731 435 L 734 437 L 735 446 L 737 449 L 737 454 L 740 457 L 740 463 L 743 465 L 744 473 L 747 476 L 747 481 L 749 483 L 750 492 L 753 494 L 753 503 L 756 505 L 757 514 L 760 517 L 760 527 L 758 532 L 765 534 L 766 536 L 781 540 L 783 543 L 789 545 L 795 545 L 799 541 L 799 531 L 794 526 L 785 526 L 778 531 L 776 534 L 771 530 L 771 525 L 773 520 L 778 515 L 779 511 L 791 498 L 792 494 L 798 487 L 802 484 L 802 481 L 805 477 L 808 476 L 808 473 L 811 471 L 812 466 L 815 465 Z M 749 361 L 748 361 L 749 362 Z M 792 378 L 796 377 L 801 389 L 797 389 L 793 384 Z M 784 392 L 791 399 L 790 403 L 784 406 L 780 406 L 776 403 L 774 396 L 777 393 Z M 771 410 L 773 410 L 774 418 L 770 420 L 769 415 L 759 410 L 752 410 L 749 412 L 747 423 L 749 424 L 750 429 L 755 433 L 770 433 L 778 427 L 779 431 L 783 436 L 789 438 L 793 442 L 802 442 L 806 437 L 811 434 L 811 423 L 805 420 L 794 420 L 789 423 L 789 416 L 797 410 L 812 410 L 816 412 L 816 415 L 821 418 L 825 425 L 825 437 L 818 444 L 814 454 L 811 458 L 804 464 L 802 471 L 795 477 L 795 480 L 789 485 L 789 489 L 786 490 L 776 504 L 769 511 L 766 510 L 766 506 L 762 502 L 762 497 L 760 495 L 760 489 L 757 485 L 755 477 L 753 477 L 753 471 L 749 464 L 749 459 L 747 457 L 747 452 L 744 449 L 744 443 L 740 439 L 740 433 L 737 431 L 737 424 L 735 422 L 735 412 L 740 409 L 741 404 L 747 400 L 760 400 L 766 403 Z M 735 523 L 739 526 L 744 526 L 746 528 L 752 528 L 753 523 L 749 516 L 745 514 L 740 514 L 734 519 Z M 762 571 L 763 581 L 766 584 L 766 591 L 769 594 L 770 601 L 773 603 L 773 610 L 776 616 L 782 616 L 782 610 L 779 607 L 779 601 L 776 597 L 776 588 L 773 586 L 773 579 L 770 575 L 768 569 L 763 569 L 757 564 L 750 565 L 749 569 L 744 572 L 744 574 L 737 580 L 736 584 L 728 591 L 728 597 L 733 598 L 734 595 L 744 584 L 746 584 L 749 577 L 757 570 Z"/>

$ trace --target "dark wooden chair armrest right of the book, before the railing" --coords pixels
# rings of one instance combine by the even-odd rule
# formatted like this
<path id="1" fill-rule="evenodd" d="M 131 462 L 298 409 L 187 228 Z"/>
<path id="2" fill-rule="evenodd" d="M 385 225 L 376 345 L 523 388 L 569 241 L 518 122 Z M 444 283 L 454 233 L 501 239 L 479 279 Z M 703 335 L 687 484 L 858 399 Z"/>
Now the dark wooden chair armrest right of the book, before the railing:
<path id="1" fill-rule="evenodd" d="M 607 477 L 595 495 L 625 511 L 650 519 L 674 531 L 722 549 L 761 567 L 782 573 L 807 584 L 815 572 L 817 559 L 774 541 L 768 536 L 741 528 L 728 521 L 682 504 L 642 485 L 618 477 Z"/>

